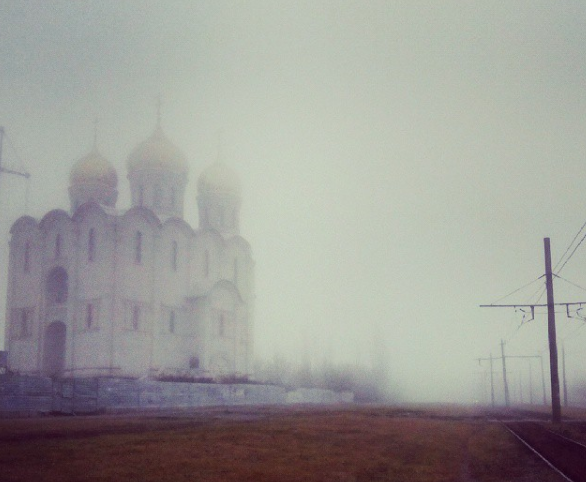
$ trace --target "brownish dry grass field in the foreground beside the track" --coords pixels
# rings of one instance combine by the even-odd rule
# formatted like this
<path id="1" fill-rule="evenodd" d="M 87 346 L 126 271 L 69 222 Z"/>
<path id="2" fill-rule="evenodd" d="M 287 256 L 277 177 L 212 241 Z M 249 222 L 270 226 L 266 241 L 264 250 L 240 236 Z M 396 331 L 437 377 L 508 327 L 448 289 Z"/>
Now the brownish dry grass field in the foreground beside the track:
<path id="1" fill-rule="evenodd" d="M 559 481 L 458 407 L 0 420 L 2 481 Z"/>

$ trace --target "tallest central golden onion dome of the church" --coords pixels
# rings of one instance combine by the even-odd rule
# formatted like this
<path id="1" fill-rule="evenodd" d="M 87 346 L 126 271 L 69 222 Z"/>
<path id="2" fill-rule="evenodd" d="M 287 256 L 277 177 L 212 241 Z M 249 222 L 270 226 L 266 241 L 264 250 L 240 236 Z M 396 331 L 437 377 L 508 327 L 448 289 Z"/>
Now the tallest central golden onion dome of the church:
<path id="1" fill-rule="evenodd" d="M 185 155 L 164 134 L 160 125 L 144 142 L 141 142 L 128 156 L 128 170 L 167 169 L 187 172 Z"/>

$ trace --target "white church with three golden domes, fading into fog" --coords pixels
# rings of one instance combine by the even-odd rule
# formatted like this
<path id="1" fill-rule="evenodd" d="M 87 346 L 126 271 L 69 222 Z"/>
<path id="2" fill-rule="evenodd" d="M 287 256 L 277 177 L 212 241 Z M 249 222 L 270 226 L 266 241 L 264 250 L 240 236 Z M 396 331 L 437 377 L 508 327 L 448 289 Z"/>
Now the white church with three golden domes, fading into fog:
<path id="1" fill-rule="evenodd" d="M 70 212 L 22 216 L 10 231 L 6 345 L 21 375 L 246 379 L 253 269 L 241 188 L 218 160 L 197 182 L 199 226 L 183 216 L 189 164 L 165 135 L 118 174 L 94 142 L 69 177 Z"/>

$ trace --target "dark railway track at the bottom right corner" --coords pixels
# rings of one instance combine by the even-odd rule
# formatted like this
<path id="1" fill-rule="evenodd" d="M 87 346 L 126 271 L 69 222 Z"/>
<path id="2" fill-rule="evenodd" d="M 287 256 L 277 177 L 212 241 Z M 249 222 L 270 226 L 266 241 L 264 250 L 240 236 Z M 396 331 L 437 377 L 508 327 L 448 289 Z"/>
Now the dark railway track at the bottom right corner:
<path id="1" fill-rule="evenodd" d="M 537 422 L 506 422 L 503 425 L 565 480 L 586 482 L 586 445 Z"/>

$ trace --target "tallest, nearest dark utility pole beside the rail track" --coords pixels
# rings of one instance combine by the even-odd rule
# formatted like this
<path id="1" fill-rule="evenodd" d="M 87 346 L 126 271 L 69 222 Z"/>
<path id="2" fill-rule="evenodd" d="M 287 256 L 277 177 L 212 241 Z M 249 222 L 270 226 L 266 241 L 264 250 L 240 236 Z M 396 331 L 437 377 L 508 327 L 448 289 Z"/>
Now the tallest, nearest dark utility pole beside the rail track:
<path id="1" fill-rule="evenodd" d="M 555 302 L 553 299 L 553 276 L 551 273 L 551 247 L 549 238 L 543 239 L 545 254 L 545 288 L 547 291 L 547 336 L 549 340 L 549 365 L 551 376 L 552 422 L 562 421 L 560 404 L 560 378 L 558 373 L 558 347 L 555 332 Z"/>

